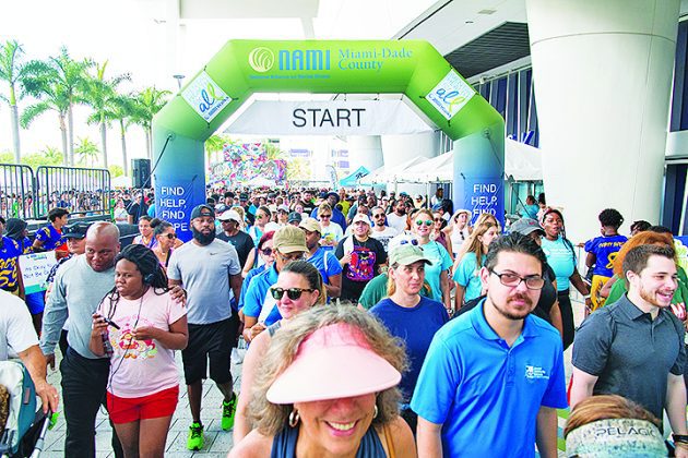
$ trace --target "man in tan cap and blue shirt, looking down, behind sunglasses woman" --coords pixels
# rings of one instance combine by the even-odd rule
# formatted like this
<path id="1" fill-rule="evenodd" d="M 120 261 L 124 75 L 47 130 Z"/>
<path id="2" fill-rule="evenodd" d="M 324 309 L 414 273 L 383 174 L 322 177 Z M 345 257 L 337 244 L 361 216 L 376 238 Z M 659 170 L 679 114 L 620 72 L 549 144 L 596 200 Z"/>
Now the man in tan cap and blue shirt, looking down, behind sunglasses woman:
<path id="1" fill-rule="evenodd" d="M 249 342 L 268 326 L 282 320 L 277 302 L 268 291 L 277 282 L 282 267 L 292 261 L 303 260 L 308 252 L 304 231 L 289 225 L 275 231 L 272 246 L 275 262 L 251 279 L 244 298 L 244 338 Z"/>

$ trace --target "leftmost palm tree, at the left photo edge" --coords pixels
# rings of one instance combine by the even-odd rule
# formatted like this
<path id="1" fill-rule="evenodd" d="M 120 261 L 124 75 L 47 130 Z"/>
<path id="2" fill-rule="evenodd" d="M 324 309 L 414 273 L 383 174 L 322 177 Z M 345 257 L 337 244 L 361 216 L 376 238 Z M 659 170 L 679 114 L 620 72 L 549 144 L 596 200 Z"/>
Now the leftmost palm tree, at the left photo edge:
<path id="1" fill-rule="evenodd" d="M 22 46 L 15 40 L 7 40 L 0 44 L 0 80 L 8 83 L 8 95 L 0 94 L 0 100 L 10 106 L 10 118 L 12 129 L 12 145 L 14 147 L 14 162 L 20 164 L 22 157 L 20 146 L 19 132 L 19 107 L 16 105 L 17 96 L 16 84 L 21 83 L 27 75 L 28 69 L 26 64 L 20 63 L 21 56 L 24 53 Z"/>

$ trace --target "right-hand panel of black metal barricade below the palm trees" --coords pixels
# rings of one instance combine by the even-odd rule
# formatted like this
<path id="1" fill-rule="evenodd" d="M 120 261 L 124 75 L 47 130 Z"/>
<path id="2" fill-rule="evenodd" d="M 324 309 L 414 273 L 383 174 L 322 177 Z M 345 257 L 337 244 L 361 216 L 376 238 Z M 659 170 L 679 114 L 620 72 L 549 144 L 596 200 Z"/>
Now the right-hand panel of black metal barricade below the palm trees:
<path id="1" fill-rule="evenodd" d="M 36 169 L 36 214 L 45 218 L 50 208 L 67 208 L 70 218 L 111 213 L 110 172 L 105 169 L 40 166 Z"/>

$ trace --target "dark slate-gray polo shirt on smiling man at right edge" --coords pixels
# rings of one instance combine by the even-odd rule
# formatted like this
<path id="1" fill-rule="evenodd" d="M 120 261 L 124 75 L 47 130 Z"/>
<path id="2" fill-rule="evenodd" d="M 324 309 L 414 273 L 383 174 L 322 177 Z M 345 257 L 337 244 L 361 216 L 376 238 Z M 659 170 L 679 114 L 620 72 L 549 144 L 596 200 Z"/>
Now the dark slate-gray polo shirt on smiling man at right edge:
<path id="1" fill-rule="evenodd" d="M 598 377 L 593 395 L 624 396 L 662 419 L 668 373 L 684 373 L 684 334 L 672 312 L 651 320 L 624 294 L 578 328 L 571 362 Z"/>

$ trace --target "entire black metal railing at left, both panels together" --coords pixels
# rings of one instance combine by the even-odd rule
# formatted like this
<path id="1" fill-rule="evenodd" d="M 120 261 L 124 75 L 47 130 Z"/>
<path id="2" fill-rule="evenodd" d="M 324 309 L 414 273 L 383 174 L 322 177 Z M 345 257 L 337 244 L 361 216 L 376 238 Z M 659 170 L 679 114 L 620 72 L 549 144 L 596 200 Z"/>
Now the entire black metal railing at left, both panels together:
<path id="1" fill-rule="evenodd" d="M 0 215 L 45 220 L 64 207 L 71 218 L 109 216 L 110 172 L 105 169 L 0 164 Z M 71 219 L 70 218 L 70 219 Z"/>

